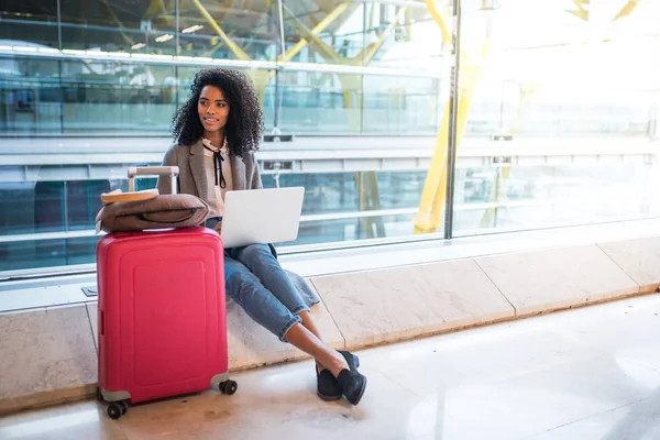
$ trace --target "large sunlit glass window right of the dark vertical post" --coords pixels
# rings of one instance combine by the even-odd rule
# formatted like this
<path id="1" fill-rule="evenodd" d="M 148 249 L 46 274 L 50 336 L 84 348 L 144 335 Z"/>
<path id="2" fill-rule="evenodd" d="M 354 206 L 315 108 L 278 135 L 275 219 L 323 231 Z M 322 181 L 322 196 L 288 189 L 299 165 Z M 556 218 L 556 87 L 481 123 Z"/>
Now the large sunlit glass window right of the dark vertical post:
<path id="1" fill-rule="evenodd" d="M 455 233 L 657 215 L 660 6 L 499 3 L 462 23 Z M 486 41 L 502 50 L 480 58 Z M 487 165 L 462 166 L 474 147 Z"/>

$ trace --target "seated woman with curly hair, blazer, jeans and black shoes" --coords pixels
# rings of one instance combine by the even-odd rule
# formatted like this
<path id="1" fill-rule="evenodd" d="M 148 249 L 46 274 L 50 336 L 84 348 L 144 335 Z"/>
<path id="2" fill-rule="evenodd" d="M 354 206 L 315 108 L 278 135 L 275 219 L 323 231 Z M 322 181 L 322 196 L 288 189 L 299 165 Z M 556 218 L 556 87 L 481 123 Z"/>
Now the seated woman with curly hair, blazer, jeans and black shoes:
<path id="1" fill-rule="evenodd" d="M 235 70 L 199 72 L 191 96 L 174 117 L 176 145 L 165 153 L 163 165 L 178 166 L 178 191 L 206 200 L 222 227 L 224 194 L 258 189 L 262 182 L 253 152 L 262 135 L 262 111 L 251 81 Z M 168 179 L 158 179 L 168 193 Z M 316 359 L 320 398 L 343 395 L 358 405 L 366 377 L 358 372 L 358 358 L 334 351 L 322 340 L 309 308 L 266 244 L 228 249 L 224 252 L 227 295 L 245 312 L 275 334 Z"/>

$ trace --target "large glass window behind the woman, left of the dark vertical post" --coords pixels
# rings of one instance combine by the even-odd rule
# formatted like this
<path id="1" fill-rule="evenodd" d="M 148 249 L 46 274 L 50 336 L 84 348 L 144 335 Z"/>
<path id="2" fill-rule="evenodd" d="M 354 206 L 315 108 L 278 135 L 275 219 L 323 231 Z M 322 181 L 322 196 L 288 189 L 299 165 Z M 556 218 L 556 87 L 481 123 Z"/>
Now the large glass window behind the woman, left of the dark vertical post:
<path id="1" fill-rule="evenodd" d="M 240 66 L 266 134 L 296 136 L 265 141 L 257 160 L 307 154 L 289 173 L 262 169 L 266 187 L 306 187 L 300 238 L 279 245 L 410 235 L 429 157 L 400 155 L 430 148 L 440 123 L 450 84 L 440 28 L 421 2 L 283 7 L 280 16 L 278 2 L 264 1 L 0 6 L 1 38 L 62 50 L 0 44 L 0 145 L 13 161 L 0 165 L 10 208 L 0 213 L 0 272 L 94 263 L 100 195 L 128 189 L 128 166 L 161 163 L 173 116 L 208 66 Z M 19 146 L 8 141 L 16 134 Z M 25 157 L 31 142 L 48 147 Z M 362 150 L 373 157 L 352 156 Z"/>

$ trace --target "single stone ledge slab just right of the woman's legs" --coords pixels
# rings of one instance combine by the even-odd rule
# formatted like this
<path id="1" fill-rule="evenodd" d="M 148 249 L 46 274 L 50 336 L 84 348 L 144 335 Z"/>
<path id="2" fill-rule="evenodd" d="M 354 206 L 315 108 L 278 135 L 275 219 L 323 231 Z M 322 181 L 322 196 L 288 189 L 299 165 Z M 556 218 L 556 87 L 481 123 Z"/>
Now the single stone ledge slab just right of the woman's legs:
<path id="1" fill-rule="evenodd" d="M 512 305 L 472 260 L 311 282 L 352 350 L 515 316 Z"/>

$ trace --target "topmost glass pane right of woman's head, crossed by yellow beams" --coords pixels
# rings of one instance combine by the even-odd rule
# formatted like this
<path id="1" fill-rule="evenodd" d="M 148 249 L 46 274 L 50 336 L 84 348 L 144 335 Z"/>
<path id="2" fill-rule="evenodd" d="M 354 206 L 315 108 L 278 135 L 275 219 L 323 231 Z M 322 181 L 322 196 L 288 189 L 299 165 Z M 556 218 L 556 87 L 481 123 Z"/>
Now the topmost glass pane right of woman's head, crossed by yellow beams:
<path id="1" fill-rule="evenodd" d="M 442 68 L 440 30 L 424 2 L 284 0 L 283 11 L 286 61 L 416 73 Z"/>

